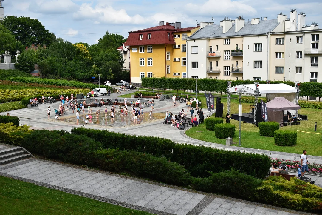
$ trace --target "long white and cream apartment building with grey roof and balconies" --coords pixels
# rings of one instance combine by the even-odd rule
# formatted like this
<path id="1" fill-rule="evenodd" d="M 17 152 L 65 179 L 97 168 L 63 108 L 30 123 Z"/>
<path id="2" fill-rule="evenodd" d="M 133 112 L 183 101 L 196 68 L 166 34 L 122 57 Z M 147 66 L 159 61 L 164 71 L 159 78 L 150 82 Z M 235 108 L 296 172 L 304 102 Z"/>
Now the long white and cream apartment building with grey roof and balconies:
<path id="1" fill-rule="evenodd" d="M 187 38 L 187 77 L 322 82 L 321 31 L 317 23 L 305 25 L 305 14 L 296 9 L 289 18 L 201 22 Z"/>

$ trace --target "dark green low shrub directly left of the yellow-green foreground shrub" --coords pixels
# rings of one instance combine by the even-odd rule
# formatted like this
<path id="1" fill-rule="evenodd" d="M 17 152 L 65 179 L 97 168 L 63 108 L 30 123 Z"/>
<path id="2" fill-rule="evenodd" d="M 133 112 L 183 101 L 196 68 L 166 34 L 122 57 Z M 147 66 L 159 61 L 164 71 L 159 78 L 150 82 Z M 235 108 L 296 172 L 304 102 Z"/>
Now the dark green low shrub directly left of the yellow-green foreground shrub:
<path id="1" fill-rule="evenodd" d="M 225 170 L 218 173 L 211 172 L 209 177 L 195 178 L 193 187 L 198 191 L 220 193 L 253 201 L 255 189 L 261 183 L 262 180 L 253 176 L 235 170 Z"/>

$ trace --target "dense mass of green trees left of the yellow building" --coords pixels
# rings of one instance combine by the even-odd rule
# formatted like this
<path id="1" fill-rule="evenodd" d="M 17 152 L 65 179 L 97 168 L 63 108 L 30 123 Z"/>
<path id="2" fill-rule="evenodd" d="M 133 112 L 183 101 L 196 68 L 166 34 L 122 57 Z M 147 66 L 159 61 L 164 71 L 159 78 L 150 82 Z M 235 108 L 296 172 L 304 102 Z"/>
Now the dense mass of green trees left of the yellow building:
<path id="1" fill-rule="evenodd" d="M 129 81 L 129 72 L 124 71 L 122 54 L 116 49 L 126 39 L 108 31 L 97 44 L 72 44 L 46 30 L 37 19 L 29 17 L 6 16 L 0 22 L 0 54 L 8 50 L 16 54 L 20 50 L 19 64 L 16 68 L 30 73 L 34 64 L 39 65 L 40 73 L 46 78 L 91 81 L 91 77 L 118 82 Z M 24 50 L 31 44 L 46 45 L 37 50 Z"/>

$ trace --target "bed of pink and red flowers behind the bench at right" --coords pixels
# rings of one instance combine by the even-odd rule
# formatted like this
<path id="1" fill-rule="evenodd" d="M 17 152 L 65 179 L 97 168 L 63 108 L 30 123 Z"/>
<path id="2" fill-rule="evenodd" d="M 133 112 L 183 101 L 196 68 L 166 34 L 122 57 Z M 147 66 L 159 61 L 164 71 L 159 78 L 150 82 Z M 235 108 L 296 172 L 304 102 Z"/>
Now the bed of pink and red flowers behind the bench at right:
<path id="1" fill-rule="evenodd" d="M 280 165 L 282 163 L 285 163 L 289 171 L 298 171 L 298 164 L 301 164 L 300 161 L 291 161 L 291 160 L 282 160 L 279 158 L 271 158 L 271 163 L 272 164 L 277 164 Z M 308 173 L 313 174 L 313 175 L 322 175 L 322 164 L 317 164 L 317 163 L 308 163 Z"/>

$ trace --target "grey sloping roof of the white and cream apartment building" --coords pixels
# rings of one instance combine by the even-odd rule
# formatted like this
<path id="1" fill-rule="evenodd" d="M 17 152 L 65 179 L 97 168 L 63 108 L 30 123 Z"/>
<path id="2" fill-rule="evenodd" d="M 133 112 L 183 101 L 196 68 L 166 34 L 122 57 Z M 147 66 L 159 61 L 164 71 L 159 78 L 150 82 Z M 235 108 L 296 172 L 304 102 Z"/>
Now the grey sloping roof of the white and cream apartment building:
<path id="1" fill-rule="evenodd" d="M 273 31 L 279 25 L 277 19 L 261 20 L 258 24 L 251 24 L 251 22 L 245 22 L 244 27 L 238 32 L 235 32 L 235 23 L 232 24 L 232 28 L 223 34 L 223 27 L 220 24 L 206 25 L 202 29 L 196 31 L 187 40 L 200 39 L 200 38 L 213 38 L 213 37 L 227 37 L 227 36 L 242 36 L 242 35 L 258 35 L 266 34 Z"/>

